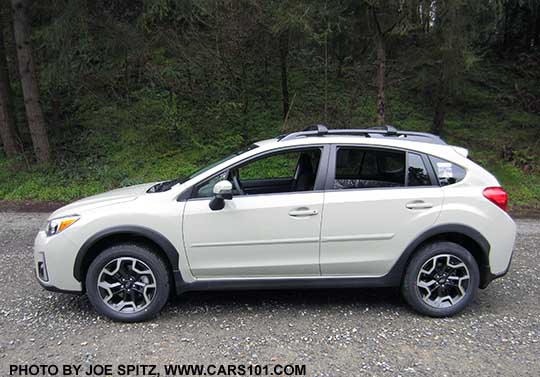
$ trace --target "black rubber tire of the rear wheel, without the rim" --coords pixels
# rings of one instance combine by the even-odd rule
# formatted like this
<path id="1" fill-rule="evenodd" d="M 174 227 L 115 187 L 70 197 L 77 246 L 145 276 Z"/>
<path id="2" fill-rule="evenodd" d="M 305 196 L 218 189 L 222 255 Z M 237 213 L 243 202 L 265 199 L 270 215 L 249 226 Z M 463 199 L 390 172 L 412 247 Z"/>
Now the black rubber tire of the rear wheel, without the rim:
<path id="1" fill-rule="evenodd" d="M 417 287 L 420 269 L 430 258 L 439 254 L 450 254 L 461 259 L 469 270 L 470 282 L 465 297 L 448 308 L 435 308 L 424 302 Z M 462 311 L 474 299 L 480 282 L 476 260 L 467 249 L 452 242 L 435 242 L 420 249 L 407 266 L 403 279 L 402 293 L 407 303 L 416 311 L 432 317 L 448 317 Z"/>

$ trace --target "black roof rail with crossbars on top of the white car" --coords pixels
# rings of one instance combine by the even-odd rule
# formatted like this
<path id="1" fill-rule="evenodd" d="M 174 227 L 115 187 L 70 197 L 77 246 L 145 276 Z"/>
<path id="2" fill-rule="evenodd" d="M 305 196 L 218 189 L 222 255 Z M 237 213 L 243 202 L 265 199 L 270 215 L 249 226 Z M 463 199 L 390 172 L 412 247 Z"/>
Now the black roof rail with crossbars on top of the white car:
<path id="1" fill-rule="evenodd" d="M 393 126 L 375 126 L 371 128 L 349 128 L 349 129 L 328 129 L 322 124 L 310 126 L 304 129 L 304 131 L 293 132 L 278 137 L 278 141 L 293 140 L 300 137 L 310 136 L 364 136 L 364 137 L 397 137 L 403 138 L 409 141 L 420 141 L 424 143 L 443 144 L 446 142 L 437 135 L 433 135 L 426 132 L 415 131 L 400 131 Z"/>

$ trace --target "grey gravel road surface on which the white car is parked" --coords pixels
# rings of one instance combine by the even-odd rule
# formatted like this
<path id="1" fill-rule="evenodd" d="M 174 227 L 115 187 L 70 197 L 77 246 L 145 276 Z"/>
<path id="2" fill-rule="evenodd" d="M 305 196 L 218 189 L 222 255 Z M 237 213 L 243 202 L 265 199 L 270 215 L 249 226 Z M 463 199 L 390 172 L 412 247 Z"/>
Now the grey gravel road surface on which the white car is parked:
<path id="1" fill-rule="evenodd" d="M 119 324 L 34 280 L 45 214 L 0 213 L 0 375 L 10 364 L 305 364 L 310 376 L 540 375 L 540 221 L 519 220 L 509 274 L 454 318 L 393 289 L 190 293 Z"/>

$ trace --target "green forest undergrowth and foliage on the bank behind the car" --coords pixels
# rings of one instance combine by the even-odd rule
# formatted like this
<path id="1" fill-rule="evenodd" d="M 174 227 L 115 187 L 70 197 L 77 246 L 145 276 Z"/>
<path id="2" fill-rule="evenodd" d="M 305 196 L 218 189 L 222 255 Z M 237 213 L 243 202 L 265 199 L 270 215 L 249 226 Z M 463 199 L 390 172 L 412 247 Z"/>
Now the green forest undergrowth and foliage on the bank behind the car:
<path id="1" fill-rule="evenodd" d="M 413 0 L 100 3 L 33 6 L 34 57 L 55 160 L 35 167 L 30 158 L 0 159 L 0 199 L 69 201 L 187 176 L 254 140 L 311 124 L 369 127 L 377 115 L 375 9 L 387 31 L 387 122 L 430 130 L 442 93 L 443 136 L 492 170 L 512 205 L 540 207 L 538 56 L 493 53 L 502 35 L 500 2 L 445 2 L 442 19 L 434 18 L 435 8 L 428 19 L 418 14 Z M 507 37 L 510 45 L 524 39 Z M 20 100 L 16 107 L 24 120 Z M 23 139 L 29 150 L 27 132 Z M 291 165 L 276 161 L 245 174 L 288 174 Z"/>

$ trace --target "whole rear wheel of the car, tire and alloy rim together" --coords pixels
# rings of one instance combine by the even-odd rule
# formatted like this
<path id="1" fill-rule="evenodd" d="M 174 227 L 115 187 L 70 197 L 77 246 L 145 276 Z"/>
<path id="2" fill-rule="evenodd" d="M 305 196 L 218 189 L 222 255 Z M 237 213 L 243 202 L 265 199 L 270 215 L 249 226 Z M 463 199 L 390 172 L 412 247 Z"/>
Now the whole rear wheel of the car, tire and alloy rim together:
<path id="1" fill-rule="evenodd" d="M 461 245 L 440 241 L 414 254 L 405 271 L 401 293 L 416 312 L 449 317 L 471 303 L 479 282 L 478 265 L 471 253 Z"/>

